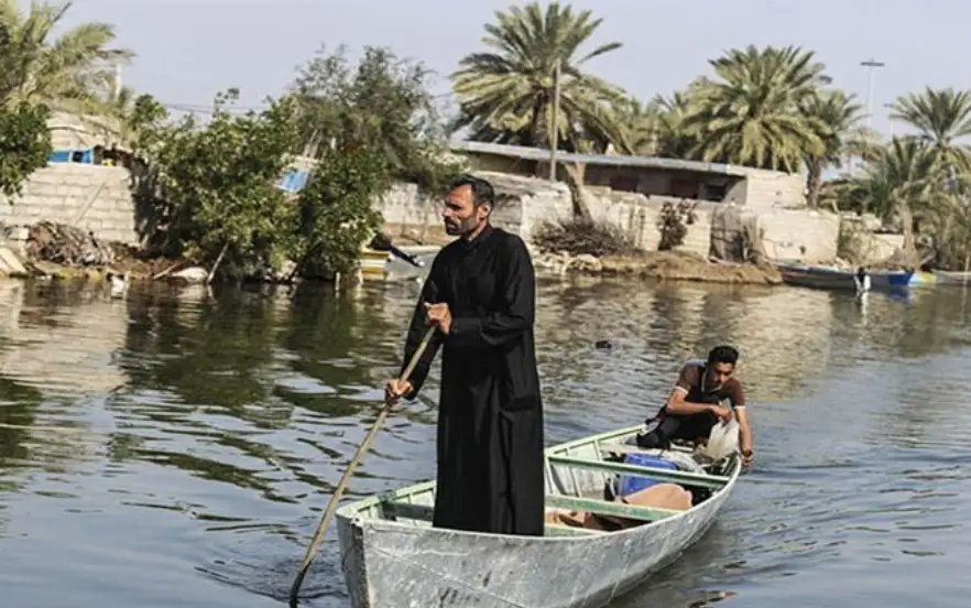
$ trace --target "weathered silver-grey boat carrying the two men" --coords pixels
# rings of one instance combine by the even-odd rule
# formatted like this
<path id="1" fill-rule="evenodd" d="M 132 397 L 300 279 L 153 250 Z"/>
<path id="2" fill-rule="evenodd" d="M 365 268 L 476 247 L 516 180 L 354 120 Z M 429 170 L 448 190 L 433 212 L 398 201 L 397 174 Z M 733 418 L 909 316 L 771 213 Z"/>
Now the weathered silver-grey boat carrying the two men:
<path id="1" fill-rule="evenodd" d="M 351 605 L 592 608 L 630 591 L 708 530 L 741 470 L 734 450 L 723 475 L 610 462 L 611 453 L 641 452 L 625 444 L 641 428 L 546 449 L 547 511 L 572 509 L 644 522 L 633 528 L 604 532 L 547 523 L 544 536 L 436 529 L 429 523 L 434 481 L 342 507 L 337 525 Z M 710 493 L 686 511 L 603 500 L 604 482 L 619 474 Z"/>

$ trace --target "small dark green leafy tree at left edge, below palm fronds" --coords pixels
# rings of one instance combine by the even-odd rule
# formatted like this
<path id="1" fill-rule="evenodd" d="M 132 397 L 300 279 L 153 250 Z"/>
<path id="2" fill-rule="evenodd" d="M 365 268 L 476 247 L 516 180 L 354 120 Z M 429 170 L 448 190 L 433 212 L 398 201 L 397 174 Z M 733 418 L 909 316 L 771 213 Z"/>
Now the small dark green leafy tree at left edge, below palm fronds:
<path id="1" fill-rule="evenodd" d="M 31 173 L 47 165 L 51 131 L 46 106 L 0 106 L 0 193 L 19 196 Z"/>

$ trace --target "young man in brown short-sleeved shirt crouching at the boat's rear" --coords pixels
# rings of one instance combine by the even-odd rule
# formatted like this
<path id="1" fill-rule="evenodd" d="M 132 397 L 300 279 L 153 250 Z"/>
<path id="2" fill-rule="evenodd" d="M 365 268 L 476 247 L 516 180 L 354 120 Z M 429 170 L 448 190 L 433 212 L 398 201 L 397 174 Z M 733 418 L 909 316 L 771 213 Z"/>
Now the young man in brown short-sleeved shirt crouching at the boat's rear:
<path id="1" fill-rule="evenodd" d="M 716 423 L 732 417 L 731 410 L 721 405 L 727 399 L 738 416 L 739 447 L 743 464 L 749 467 L 753 453 L 745 393 L 741 382 L 732 378 L 738 360 L 738 350 L 718 346 L 708 354 L 707 361 L 685 363 L 667 403 L 647 421 L 648 430 L 637 436 L 637 445 L 645 449 L 666 449 L 672 439 L 707 439 Z"/>

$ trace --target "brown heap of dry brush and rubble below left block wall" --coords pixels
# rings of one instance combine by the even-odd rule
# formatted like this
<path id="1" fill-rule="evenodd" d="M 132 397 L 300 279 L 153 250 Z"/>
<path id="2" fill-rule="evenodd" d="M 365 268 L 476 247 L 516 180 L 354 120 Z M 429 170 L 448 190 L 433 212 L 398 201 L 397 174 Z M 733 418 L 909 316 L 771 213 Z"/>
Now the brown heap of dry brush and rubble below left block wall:
<path id="1" fill-rule="evenodd" d="M 114 250 L 80 228 L 53 221 L 30 227 L 24 250 L 29 259 L 65 267 L 105 267 L 114 262 Z"/>

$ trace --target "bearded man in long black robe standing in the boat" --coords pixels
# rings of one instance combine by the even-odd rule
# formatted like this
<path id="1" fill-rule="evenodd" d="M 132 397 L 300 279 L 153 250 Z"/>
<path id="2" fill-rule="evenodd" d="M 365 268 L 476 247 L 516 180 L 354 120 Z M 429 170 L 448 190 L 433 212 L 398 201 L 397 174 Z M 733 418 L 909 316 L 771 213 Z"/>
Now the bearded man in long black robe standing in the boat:
<path id="1" fill-rule="evenodd" d="M 412 401 L 441 347 L 438 475 L 433 525 L 543 535 L 543 403 L 533 345 L 535 275 L 523 240 L 490 225 L 492 185 L 461 176 L 443 209 L 459 237 L 439 251 L 415 307 L 405 361 L 438 332 L 389 404 Z"/>

